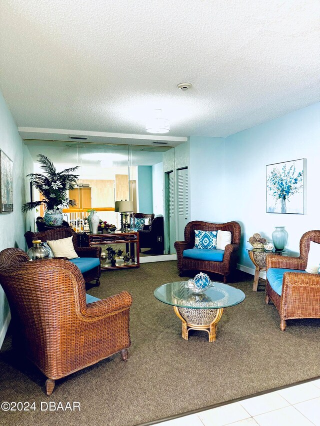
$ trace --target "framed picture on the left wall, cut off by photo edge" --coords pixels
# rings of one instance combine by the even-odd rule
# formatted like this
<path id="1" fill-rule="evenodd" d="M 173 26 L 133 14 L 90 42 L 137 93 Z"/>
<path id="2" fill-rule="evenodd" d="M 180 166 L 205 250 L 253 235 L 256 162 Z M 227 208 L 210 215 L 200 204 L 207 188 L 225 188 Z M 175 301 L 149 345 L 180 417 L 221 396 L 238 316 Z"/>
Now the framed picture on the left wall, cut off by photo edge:
<path id="1" fill-rule="evenodd" d="M 0 150 L 0 213 L 13 211 L 13 162 Z"/>

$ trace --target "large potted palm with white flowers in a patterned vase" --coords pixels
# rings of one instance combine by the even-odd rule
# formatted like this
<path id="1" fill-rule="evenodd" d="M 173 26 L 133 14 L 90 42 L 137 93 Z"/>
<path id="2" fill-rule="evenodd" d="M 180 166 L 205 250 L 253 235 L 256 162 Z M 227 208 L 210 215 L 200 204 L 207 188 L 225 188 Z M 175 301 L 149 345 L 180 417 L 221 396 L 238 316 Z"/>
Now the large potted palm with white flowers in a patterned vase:
<path id="1" fill-rule="evenodd" d="M 78 181 L 78 175 L 72 174 L 78 166 L 57 172 L 52 161 L 42 154 L 38 155 L 38 162 L 44 173 L 30 173 L 27 178 L 43 198 L 40 201 L 23 204 L 21 210 L 27 212 L 43 204 L 45 224 L 60 226 L 63 220 L 62 208 L 76 206 L 75 200 L 68 199 L 67 191 L 74 189 L 74 185 Z"/>

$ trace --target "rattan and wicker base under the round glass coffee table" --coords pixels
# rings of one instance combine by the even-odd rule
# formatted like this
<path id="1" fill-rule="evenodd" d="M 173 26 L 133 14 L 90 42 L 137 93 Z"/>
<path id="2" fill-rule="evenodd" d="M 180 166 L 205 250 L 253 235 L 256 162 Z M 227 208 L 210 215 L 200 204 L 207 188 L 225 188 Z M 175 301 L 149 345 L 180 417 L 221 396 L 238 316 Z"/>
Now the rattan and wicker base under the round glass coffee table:
<path id="1" fill-rule="evenodd" d="M 223 308 L 194 309 L 173 307 L 176 316 L 182 321 L 182 338 L 188 340 L 189 330 L 204 330 L 209 342 L 215 342 L 217 323 L 222 317 Z"/>

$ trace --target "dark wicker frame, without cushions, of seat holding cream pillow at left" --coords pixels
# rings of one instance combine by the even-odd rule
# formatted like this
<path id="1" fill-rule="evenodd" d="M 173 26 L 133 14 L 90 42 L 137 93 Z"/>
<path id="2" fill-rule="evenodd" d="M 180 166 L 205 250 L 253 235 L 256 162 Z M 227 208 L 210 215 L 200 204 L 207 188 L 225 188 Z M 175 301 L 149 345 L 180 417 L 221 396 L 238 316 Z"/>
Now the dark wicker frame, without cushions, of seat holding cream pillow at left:
<path id="1" fill-rule="evenodd" d="M 64 226 L 57 227 L 57 228 L 51 228 L 46 231 L 42 232 L 31 232 L 27 231 L 24 234 L 26 244 L 28 248 L 32 247 L 32 240 L 41 240 L 43 243 L 47 240 L 59 240 L 61 238 L 67 238 L 70 236 L 73 236 L 72 243 L 74 247 L 74 251 L 79 257 L 96 257 L 100 259 L 101 256 L 101 247 L 100 246 L 94 246 L 94 247 L 79 247 L 78 246 L 78 236 L 76 232 L 73 231 L 72 228 L 67 228 Z M 83 273 L 84 282 L 88 283 L 89 281 L 95 280 L 95 285 L 100 284 L 100 278 L 101 276 L 101 267 L 100 264 L 90 269 L 87 272 Z"/>

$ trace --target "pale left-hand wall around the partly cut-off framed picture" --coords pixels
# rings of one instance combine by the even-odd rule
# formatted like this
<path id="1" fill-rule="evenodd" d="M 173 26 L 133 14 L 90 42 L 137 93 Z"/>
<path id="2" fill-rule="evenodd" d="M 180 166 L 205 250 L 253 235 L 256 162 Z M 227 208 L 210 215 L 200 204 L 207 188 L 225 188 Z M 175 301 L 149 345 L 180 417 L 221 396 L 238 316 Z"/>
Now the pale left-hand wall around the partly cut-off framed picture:
<path id="1" fill-rule="evenodd" d="M 0 214 L 0 251 L 7 247 L 25 249 L 24 216 L 21 213 L 21 205 L 24 202 L 22 140 L 1 92 L 0 129 L 0 149 L 13 161 L 13 212 Z M 0 287 L 0 347 L 9 319 L 7 300 Z"/>

